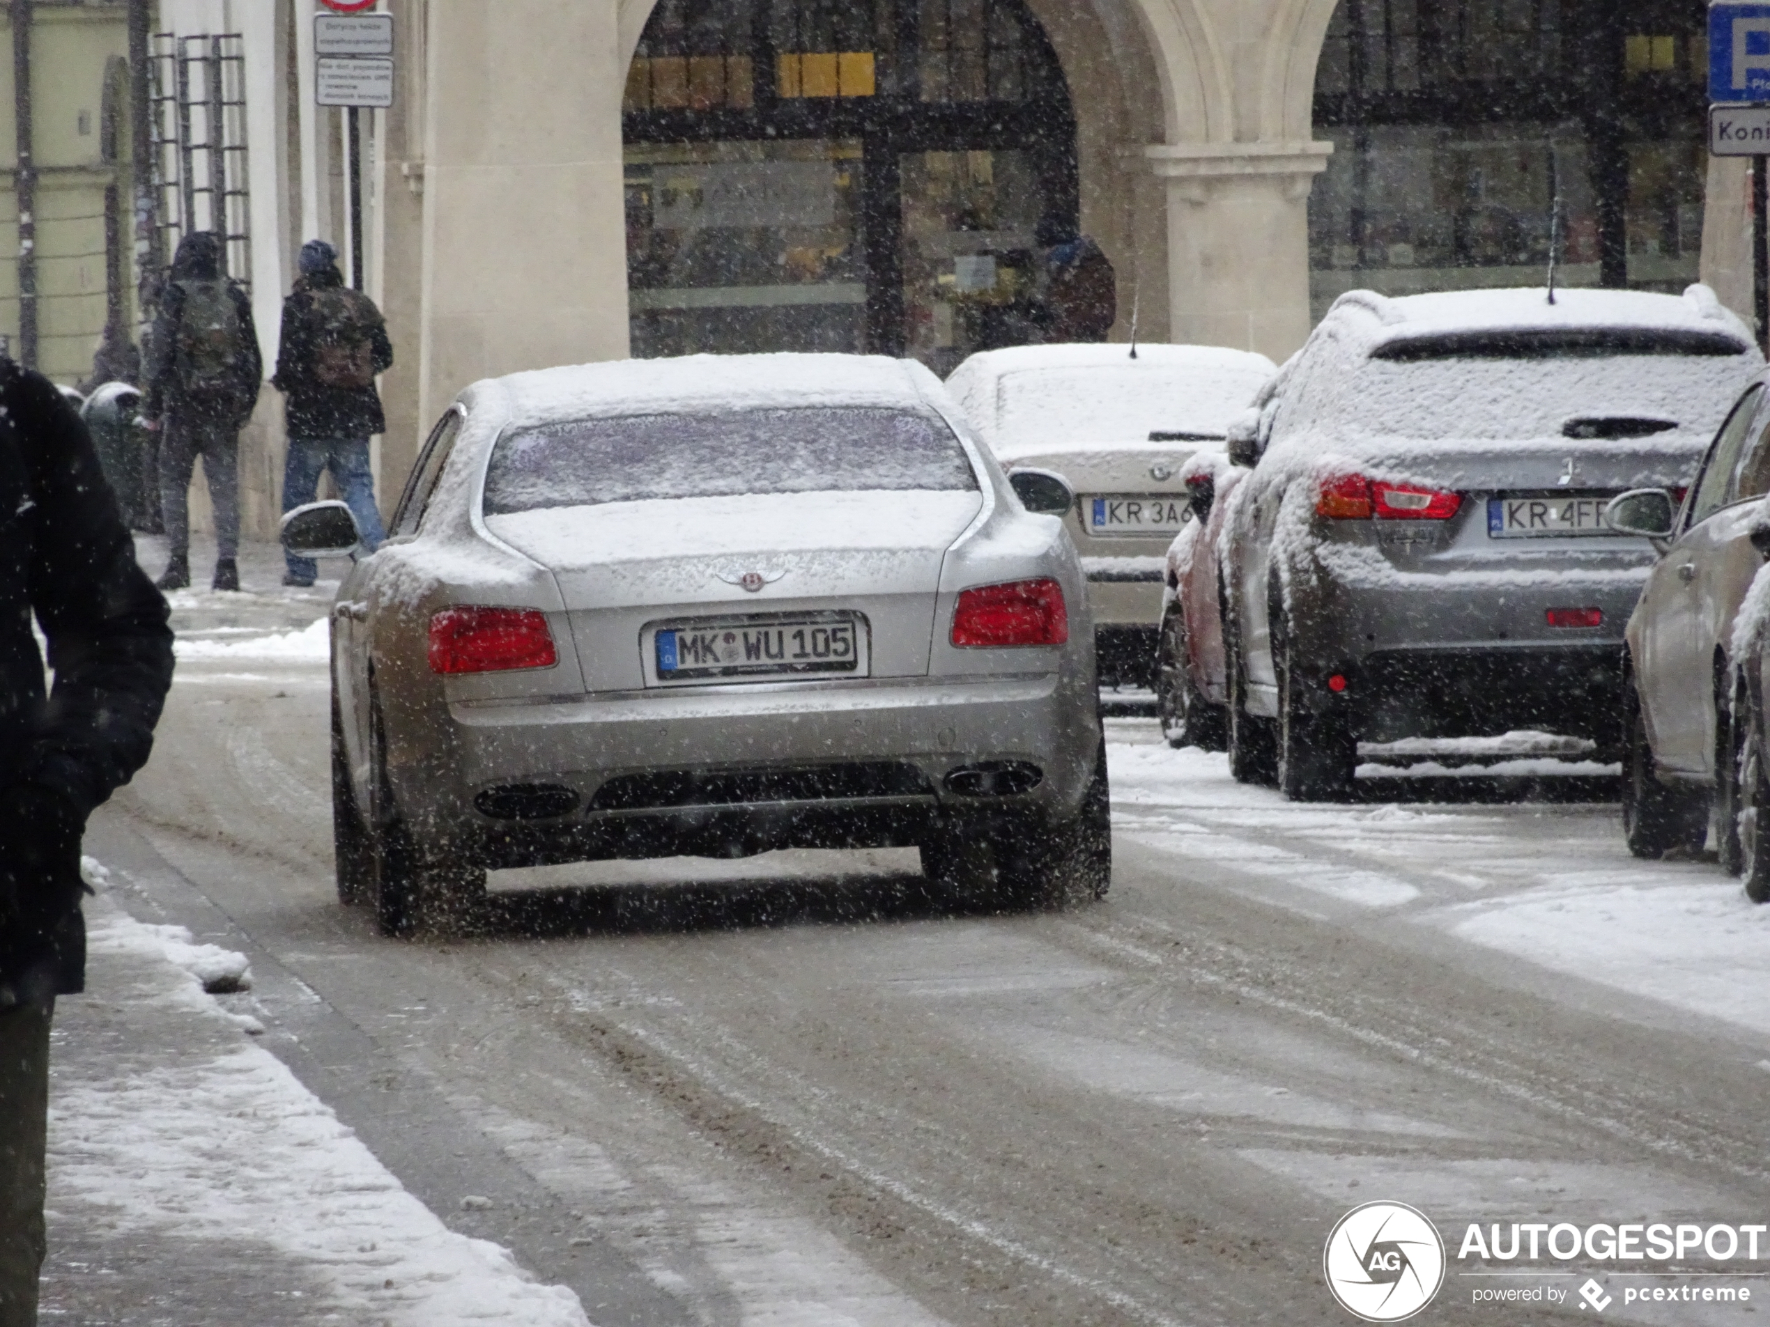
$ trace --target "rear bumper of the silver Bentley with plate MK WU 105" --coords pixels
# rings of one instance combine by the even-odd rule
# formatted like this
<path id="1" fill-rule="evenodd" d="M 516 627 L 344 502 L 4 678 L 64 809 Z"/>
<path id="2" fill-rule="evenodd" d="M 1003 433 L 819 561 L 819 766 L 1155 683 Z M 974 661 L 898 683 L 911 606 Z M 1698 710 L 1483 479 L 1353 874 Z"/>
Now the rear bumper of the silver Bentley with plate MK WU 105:
<path id="1" fill-rule="evenodd" d="M 1058 674 L 457 704 L 448 722 L 446 775 L 389 775 L 414 826 L 487 865 L 1060 819 L 1080 810 L 1099 743 L 1092 692 Z"/>

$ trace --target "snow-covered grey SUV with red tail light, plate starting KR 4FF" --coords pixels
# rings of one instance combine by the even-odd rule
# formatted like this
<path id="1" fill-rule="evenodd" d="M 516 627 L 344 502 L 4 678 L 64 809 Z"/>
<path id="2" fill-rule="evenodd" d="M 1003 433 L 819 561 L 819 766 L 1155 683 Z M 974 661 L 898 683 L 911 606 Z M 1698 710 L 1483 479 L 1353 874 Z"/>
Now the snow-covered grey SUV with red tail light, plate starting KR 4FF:
<path id="1" fill-rule="evenodd" d="M 1761 364 L 1706 287 L 1342 295 L 1230 437 L 1237 777 L 1333 798 L 1359 740 L 1520 727 L 1614 759 L 1653 547 L 1604 510 L 1689 485 Z"/>

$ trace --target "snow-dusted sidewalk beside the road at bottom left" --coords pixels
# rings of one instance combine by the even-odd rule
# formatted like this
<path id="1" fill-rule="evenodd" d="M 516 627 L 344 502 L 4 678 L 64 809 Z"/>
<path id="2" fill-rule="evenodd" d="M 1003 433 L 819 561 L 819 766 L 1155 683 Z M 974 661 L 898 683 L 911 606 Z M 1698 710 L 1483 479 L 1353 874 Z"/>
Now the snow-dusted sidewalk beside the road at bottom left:
<path id="1" fill-rule="evenodd" d="M 44 1323 L 589 1327 L 577 1297 L 450 1231 L 204 991 L 244 957 L 99 897 L 58 1003 Z"/>

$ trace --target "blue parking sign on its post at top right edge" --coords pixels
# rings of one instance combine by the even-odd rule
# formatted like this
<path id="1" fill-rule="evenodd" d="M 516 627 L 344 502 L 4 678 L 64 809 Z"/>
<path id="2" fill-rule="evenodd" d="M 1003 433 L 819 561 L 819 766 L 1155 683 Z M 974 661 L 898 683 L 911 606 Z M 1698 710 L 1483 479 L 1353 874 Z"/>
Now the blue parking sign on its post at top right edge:
<path id="1" fill-rule="evenodd" d="M 1770 349 L 1770 255 L 1765 251 L 1765 154 L 1770 150 L 1770 4 L 1708 7 L 1708 150 L 1752 159 L 1752 313 Z"/>

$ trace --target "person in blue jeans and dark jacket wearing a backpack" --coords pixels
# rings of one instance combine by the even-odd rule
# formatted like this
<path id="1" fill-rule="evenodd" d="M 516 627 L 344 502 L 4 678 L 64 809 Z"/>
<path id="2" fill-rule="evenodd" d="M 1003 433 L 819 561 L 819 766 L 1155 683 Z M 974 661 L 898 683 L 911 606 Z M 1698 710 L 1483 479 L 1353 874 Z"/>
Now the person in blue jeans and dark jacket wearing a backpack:
<path id="1" fill-rule="evenodd" d="M 343 494 L 363 547 L 373 552 L 384 536 L 375 508 L 375 476 L 368 439 L 386 430 L 375 377 L 393 366 L 393 343 L 381 310 L 343 283 L 338 251 L 322 239 L 301 246 L 301 276 L 283 301 L 276 377 L 289 421 L 283 465 L 283 511 L 312 502 L 320 471 L 329 469 Z M 285 586 L 312 586 L 315 564 L 285 554 Z"/>

